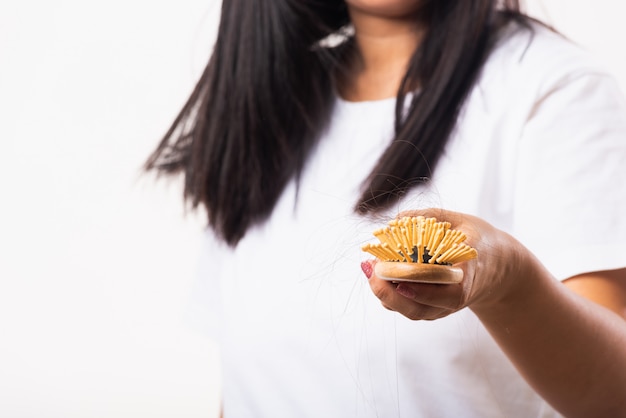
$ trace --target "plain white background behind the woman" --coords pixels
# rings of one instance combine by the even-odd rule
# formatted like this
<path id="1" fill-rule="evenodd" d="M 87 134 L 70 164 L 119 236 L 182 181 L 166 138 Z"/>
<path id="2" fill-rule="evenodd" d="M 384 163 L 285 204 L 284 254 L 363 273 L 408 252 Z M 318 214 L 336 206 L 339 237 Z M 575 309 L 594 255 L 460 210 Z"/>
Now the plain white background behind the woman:
<path id="1" fill-rule="evenodd" d="M 621 0 L 530 11 L 626 86 Z M 181 325 L 202 228 L 140 175 L 217 0 L 0 0 L 0 416 L 212 417 L 217 351 Z"/>

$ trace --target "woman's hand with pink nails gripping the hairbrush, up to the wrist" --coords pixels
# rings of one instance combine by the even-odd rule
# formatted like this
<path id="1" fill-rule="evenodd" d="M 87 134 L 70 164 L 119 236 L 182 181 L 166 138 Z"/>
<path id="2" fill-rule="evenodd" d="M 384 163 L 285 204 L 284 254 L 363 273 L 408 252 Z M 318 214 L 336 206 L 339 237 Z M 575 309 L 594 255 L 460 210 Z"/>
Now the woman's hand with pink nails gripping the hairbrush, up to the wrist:
<path id="1" fill-rule="evenodd" d="M 464 277 L 457 284 L 392 283 L 376 277 L 375 260 L 363 266 L 374 294 L 387 309 L 410 319 L 438 319 L 465 307 L 501 302 L 511 294 L 529 252 L 510 235 L 470 215 L 442 209 L 404 212 L 403 216 L 435 217 L 467 235 L 466 243 L 478 251 L 476 259 L 460 263 Z"/>

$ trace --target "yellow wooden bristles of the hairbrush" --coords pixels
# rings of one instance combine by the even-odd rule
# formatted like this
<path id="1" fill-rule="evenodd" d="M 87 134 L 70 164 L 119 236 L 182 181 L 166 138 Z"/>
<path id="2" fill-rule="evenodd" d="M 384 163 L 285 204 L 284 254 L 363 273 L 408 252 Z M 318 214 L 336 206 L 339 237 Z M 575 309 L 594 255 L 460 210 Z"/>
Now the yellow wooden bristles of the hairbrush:
<path id="1" fill-rule="evenodd" d="M 450 226 L 423 216 L 394 219 L 387 228 L 373 232 L 380 243 L 361 249 L 383 261 L 408 263 L 450 265 L 476 258 L 476 250 L 463 243 L 465 234 Z"/>

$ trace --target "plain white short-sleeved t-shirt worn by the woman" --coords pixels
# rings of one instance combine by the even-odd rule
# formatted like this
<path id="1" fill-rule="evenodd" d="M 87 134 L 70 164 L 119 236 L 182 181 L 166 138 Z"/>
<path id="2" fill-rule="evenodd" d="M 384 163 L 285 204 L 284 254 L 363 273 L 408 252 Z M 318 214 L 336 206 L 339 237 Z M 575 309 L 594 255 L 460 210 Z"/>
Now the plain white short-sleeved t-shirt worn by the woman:
<path id="1" fill-rule="evenodd" d="M 221 345 L 226 417 L 551 417 L 475 315 L 384 309 L 353 212 L 393 132 L 394 99 L 338 100 L 296 199 L 236 250 L 207 233 L 197 298 Z M 557 279 L 626 266 L 626 106 L 579 48 L 537 28 L 490 57 L 427 187 L 404 209 L 477 215 Z M 532 307 L 529 307 L 532 309 Z"/>

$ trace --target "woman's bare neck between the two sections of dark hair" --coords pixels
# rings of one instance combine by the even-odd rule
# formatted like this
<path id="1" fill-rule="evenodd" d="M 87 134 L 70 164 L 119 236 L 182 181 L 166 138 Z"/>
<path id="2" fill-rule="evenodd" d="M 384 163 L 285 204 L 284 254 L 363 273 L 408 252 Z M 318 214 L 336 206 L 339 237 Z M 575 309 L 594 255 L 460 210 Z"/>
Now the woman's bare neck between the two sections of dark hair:
<path id="1" fill-rule="evenodd" d="M 412 16 L 385 17 L 351 9 L 350 17 L 357 54 L 338 80 L 339 93 L 349 101 L 396 96 L 424 27 Z"/>

